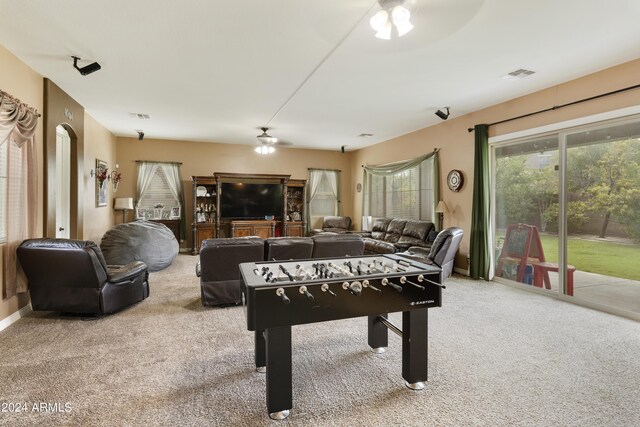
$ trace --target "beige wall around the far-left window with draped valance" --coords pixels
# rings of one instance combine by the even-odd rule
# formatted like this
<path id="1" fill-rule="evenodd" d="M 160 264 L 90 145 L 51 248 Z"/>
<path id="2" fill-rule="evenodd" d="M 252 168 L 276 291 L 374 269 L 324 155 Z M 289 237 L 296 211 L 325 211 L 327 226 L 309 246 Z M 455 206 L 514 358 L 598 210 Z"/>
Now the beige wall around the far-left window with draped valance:
<path id="1" fill-rule="evenodd" d="M 43 93 L 42 93 L 42 76 L 31 68 L 27 67 L 22 61 L 16 58 L 12 53 L 0 46 L 0 89 L 19 98 L 22 102 L 36 108 L 40 113 L 43 110 Z M 38 161 L 38 213 L 36 230 L 42 232 L 42 171 L 43 171 L 43 139 L 42 139 L 42 118 L 36 129 L 36 153 Z M 0 245 L 0 256 L 3 256 L 3 247 Z M 0 263 L 0 278 L 4 276 L 2 271 L 2 263 Z M 0 279 L 2 280 L 2 279 Z M 27 294 L 19 294 L 15 297 L 2 300 L 0 302 L 0 320 L 15 313 L 29 303 Z"/>

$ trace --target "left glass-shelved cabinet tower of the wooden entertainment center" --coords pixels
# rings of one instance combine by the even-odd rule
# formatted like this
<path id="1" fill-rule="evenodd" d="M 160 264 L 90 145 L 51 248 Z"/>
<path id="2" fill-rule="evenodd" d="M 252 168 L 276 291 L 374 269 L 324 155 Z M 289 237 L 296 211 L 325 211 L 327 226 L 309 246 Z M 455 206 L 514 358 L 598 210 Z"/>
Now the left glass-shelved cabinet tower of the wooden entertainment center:
<path id="1" fill-rule="evenodd" d="M 202 241 L 214 239 L 218 209 L 218 182 L 213 176 L 192 176 L 193 182 L 193 251 L 200 252 Z"/>

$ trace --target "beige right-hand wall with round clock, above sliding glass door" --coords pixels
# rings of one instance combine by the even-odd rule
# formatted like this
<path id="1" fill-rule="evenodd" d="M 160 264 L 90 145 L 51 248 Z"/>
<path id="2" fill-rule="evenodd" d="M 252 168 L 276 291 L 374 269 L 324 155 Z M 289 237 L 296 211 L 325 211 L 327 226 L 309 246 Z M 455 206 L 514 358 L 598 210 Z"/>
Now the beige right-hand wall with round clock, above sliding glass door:
<path id="1" fill-rule="evenodd" d="M 440 148 L 441 198 L 446 202 L 450 211 L 445 215 L 444 226 L 456 226 L 464 229 L 465 236 L 460 246 L 456 267 L 466 270 L 471 228 L 474 153 L 474 136 L 473 133 L 467 131 L 467 128 L 634 86 L 638 84 L 638 76 L 640 76 L 640 60 L 355 151 L 351 157 L 351 180 L 354 186 L 356 183 L 362 182 L 361 165 L 378 165 L 410 159 L 428 153 L 434 148 Z M 640 105 L 640 90 L 638 89 L 492 126 L 489 129 L 489 134 L 490 136 L 504 135 L 635 105 Z M 455 106 L 453 108 L 455 111 Z M 446 176 L 451 169 L 460 169 L 464 173 L 464 187 L 458 193 L 449 191 L 446 186 Z M 362 193 L 354 191 L 352 194 L 352 216 L 359 223 L 362 216 Z"/>

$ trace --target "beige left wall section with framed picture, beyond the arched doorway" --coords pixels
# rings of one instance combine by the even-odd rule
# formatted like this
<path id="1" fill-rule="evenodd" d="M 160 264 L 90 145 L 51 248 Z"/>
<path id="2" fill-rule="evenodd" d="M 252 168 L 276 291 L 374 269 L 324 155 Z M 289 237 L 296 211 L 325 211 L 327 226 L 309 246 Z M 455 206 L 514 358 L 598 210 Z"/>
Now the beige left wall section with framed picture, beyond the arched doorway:
<path id="1" fill-rule="evenodd" d="M 116 193 L 109 184 L 107 206 L 96 207 L 96 180 L 89 176 L 95 170 L 96 159 L 104 160 L 109 173 L 115 169 L 116 137 L 89 114 L 84 114 L 84 222 L 83 239 L 100 244 L 100 239 L 114 223 L 113 199 Z"/>

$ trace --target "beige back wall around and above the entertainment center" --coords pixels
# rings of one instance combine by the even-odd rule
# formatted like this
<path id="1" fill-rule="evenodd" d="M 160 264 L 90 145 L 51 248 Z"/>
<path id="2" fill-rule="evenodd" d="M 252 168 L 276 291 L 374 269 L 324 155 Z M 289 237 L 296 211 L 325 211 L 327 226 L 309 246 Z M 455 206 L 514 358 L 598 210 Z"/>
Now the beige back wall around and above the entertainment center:
<path id="1" fill-rule="evenodd" d="M 194 141 L 168 141 L 146 138 L 117 139 L 117 161 L 122 172 L 118 197 L 136 196 L 136 160 L 182 162 L 182 180 L 185 189 L 188 241 L 183 247 L 192 247 L 190 232 L 193 217 L 191 176 L 212 175 L 214 172 L 248 174 L 291 174 L 292 179 L 308 179 L 307 168 L 342 170 L 340 185 L 343 212 L 352 211 L 351 154 L 326 150 L 303 150 L 278 147 L 274 154 L 260 156 L 254 145 L 234 145 Z M 133 219 L 133 212 L 127 214 Z M 120 219 L 118 219 L 118 222 Z"/>

